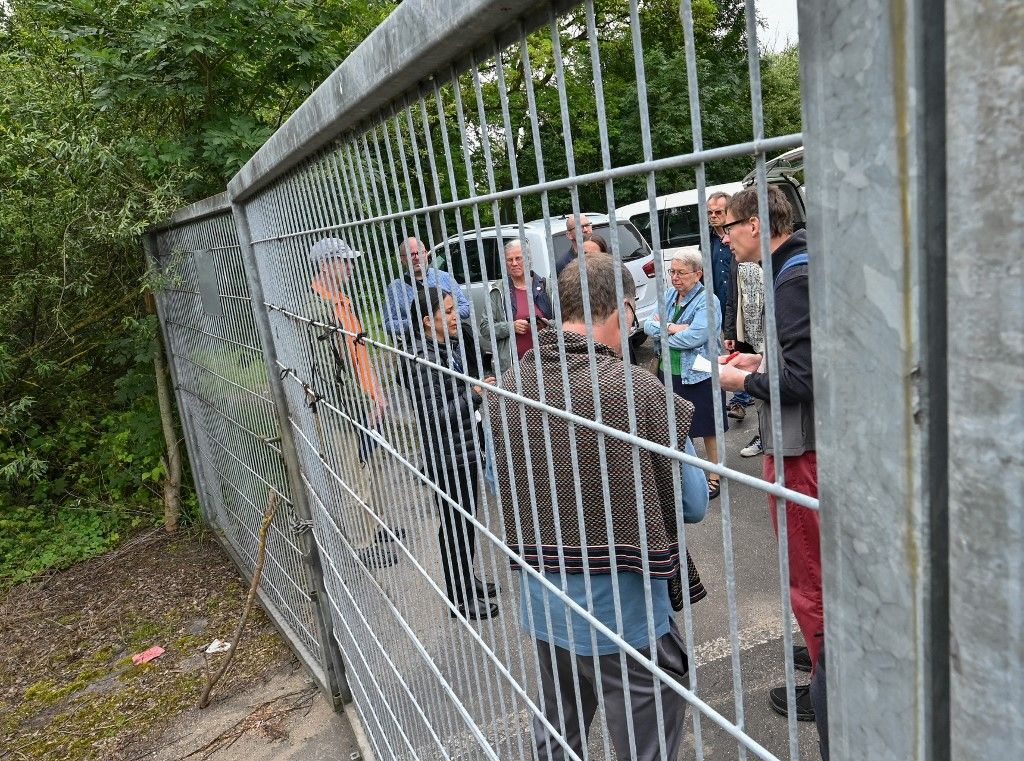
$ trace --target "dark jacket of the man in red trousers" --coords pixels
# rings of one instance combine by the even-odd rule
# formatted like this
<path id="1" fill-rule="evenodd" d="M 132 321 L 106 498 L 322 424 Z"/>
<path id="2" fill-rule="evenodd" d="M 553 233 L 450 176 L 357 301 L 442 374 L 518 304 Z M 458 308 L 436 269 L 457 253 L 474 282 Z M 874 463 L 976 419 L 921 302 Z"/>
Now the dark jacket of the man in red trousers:
<path id="1" fill-rule="evenodd" d="M 814 450 L 814 379 L 811 365 L 811 301 L 807 264 L 798 264 L 779 274 L 794 256 L 807 252 L 807 232 L 790 236 L 771 255 L 775 283 L 775 332 L 778 337 L 778 390 L 782 404 L 781 442 L 785 456 Z M 770 401 L 767 373 L 751 373 L 743 389 L 767 408 Z M 770 411 L 761 415 L 761 438 L 772 454 Z"/>

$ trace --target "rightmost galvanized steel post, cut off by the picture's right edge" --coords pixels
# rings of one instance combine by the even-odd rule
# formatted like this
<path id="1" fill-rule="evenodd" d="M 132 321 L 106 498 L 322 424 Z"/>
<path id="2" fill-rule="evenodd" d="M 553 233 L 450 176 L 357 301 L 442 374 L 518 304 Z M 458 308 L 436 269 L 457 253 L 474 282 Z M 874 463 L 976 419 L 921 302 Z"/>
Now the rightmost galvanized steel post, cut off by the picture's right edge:
<path id="1" fill-rule="evenodd" d="M 951 757 L 1009 759 L 1024 753 L 1024 13 L 947 13 Z"/>

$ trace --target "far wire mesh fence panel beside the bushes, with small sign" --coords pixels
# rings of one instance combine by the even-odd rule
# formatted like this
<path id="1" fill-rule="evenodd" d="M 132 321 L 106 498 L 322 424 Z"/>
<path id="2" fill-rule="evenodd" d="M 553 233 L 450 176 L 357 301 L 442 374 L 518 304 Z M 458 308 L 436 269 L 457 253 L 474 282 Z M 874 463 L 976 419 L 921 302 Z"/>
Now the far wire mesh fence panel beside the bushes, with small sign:
<path id="1" fill-rule="evenodd" d="M 276 495 L 260 600 L 321 685 L 334 691 L 226 196 L 179 213 L 146 244 L 200 507 L 251 578 L 260 521 Z"/>

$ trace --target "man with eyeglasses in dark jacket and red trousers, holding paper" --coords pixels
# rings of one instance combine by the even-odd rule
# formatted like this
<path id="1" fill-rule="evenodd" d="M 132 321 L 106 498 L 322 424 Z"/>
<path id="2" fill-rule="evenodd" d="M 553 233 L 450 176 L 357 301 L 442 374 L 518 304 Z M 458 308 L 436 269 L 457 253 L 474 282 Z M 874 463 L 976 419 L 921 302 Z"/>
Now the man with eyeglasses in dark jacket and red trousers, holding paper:
<path id="1" fill-rule="evenodd" d="M 775 459 L 783 458 L 785 485 L 809 497 L 818 496 L 814 441 L 814 383 L 811 363 L 811 304 L 808 289 L 807 232 L 793 231 L 793 207 L 779 188 L 769 185 L 767 217 L 775 296 L 776 345 L 766 346 L 778 356 L 781 430 L 771 423 L 771 393 L 765 355 L 742 353 L 719 367 L 722 388 L 743 389 L 760 401 L 764 478 L 775 480 Z M 723 226 L 725 241 L 740 262 L 761 262 L 761 219 L 756 187 L 740 191 L 729 201 Z M 768 284 L 765 284 L 768 287 Z M 776 502 L 768 498 L 776 533 Z M 790 599 L 807 643 L 812 682 L 798 685 L 797 719 L 817 721 L 821 753 L 828 757 L 827 714 L 824 701 L 824 605 L 821 589 L 821 545 L 818 513 L 792 502 L 785 504 L 790 547 Z M 785 687 L 769 692 L 772 709 L 786 715 Z"/>

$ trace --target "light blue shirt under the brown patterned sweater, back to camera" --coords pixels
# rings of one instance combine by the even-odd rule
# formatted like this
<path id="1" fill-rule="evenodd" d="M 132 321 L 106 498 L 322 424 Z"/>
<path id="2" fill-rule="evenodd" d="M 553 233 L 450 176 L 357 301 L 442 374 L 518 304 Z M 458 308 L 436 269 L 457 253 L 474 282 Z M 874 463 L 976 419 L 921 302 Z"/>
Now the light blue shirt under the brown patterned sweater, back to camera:
<path id="1" fill-rule="evenodd" d="M 688 455 L 695 456 L 693 443 L 689 438 L 686 439 L 683 451 Z M 683 521 L 695 523 L 703 518 L 708 510 L 708 480 L 705 472 L 695 465 L 682 465 L 681 475 Z M 590 610 L 595 619 L 611 631 L 618 633 L 632 646 L 637 649 L 650 646 L 647 632 L 648 608 L 642 575 L 630 572 L 615 575 L 618 582 L 622 629 L 615 623 L 615 601 L 611 574 L 591 574 L 590 586 L 593 607 L 588 605 L 587 581 L 583 574 L 566 574 L 564 587 L 558 572 L 545 572 L 544 576 L 583 608 Z M 588 621 L 569 608 L 526 572 L 520 572 L 519 581 L 522 628 L 532 637 L 545 642 L 553 642 L 579 656 L 607 656 L 618 651 L 618 646 L 614 642 L 596 630 L 594 631 L 597 637 L 597 649 L 595 650 L 594 640 L 591 637 L 591 625 Z M 683 586 L 683 593 L 686 593 L 686 585 Z M 551 610 L 550 629 L 545 615 L 545 598 L 547 598 Z M 672 602 L 669 599 L 668 580 L 650 580 L 650 620 L 654 624 L 654 639 L 657 639 L 669 631 L 669 624 L 672 620 Z M 566 610 L 572 624 L 573 641 L 571 643 L 569 642 L 569 628 L 565 622 Z M 530 614 L 532 614 L 532 622 Z"/>

